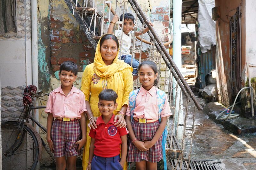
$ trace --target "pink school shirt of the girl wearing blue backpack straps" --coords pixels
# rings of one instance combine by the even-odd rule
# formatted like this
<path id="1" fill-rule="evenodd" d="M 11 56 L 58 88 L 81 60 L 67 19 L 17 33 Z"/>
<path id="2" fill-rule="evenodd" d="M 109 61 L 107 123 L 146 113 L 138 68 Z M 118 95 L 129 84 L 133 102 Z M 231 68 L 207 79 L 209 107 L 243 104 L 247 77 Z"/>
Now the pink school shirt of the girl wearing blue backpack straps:
<path id="1" fill-rule="evenodd" d="M 153 86 L 149 91 L 145 90 L 142 86 L 135 99 L 135 108 L 133 111 L 133 117 L 158 120 L 158 108 L 157 108 L 157 96 L 156 87 Z M 129 105 L 127 107 L 126 114 L 131 116 Z M 167 96 L 165 95 L 164 107 L 161 112 L 161 117 L 172 115 L 169 107 Z"/>

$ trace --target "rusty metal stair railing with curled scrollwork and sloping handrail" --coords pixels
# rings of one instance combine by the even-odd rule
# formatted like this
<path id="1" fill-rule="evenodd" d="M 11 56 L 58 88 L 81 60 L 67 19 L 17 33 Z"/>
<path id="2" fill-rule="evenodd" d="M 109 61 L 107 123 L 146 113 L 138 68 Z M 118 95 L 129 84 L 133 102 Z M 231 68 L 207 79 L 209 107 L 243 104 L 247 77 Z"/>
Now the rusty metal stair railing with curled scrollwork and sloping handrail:
<path id="1" fill-rule="evenodd" d="M 139 57 L 137 58 L 139 63 L 143 60 L 152 60 L 157 64 L 159 70 L 159 81 L 157 86 L 159 89 L 164 90 L 167 93 L 173 113 L 173 118 L 170 118 L 167 124 L 168 137 L 166 153 L 170 159 L 175 159 L 175 161 L 170 162 L 183 165 L 172 166 L 172 169 L 182 169 L 182 167 L 191 169 L 189 166 L 193 165 L 190 161 L 190 156 L 194 133 L 195 113 L 196 108 L 201 110 L 202 107 L 196 100 L 195 95 L 183 78 L 180 70 L 173 62 L 169 52 L 166 50 L 166 43 L 164 44 L 160 40 L 154 27 L 148 24 L 149 20 L 137 0 L 115 0 L 114 3 L 106 0 L 102 0 L 101 2 L 98 0 L 84 0 L 82 1 L 83 5 L 79 5 L 77 0 L 65 0 L 65 2 L 67 3 L 70 11 L 74 14 L 80 27 L 84 30 L 84 33 L 92 43 L 94 49 L 96 49 L 97 46 L 97 39 L 107 33 L 110 18 L 113 14 L 117 13 L 120 15 L 126 13 L 128 5 L 131 6 L 130 9 L 132 9 L 135 14 L 134 31 L 141 33 L 143 27 L 149 28 L 147 33 L 143 34 L 142 32 L 142 35 L 140 36 L 141 40 L 147 39 L 147 42 L 144 42 L 148 44 L 148 57 L 146 59 L 142 58 L 143 41 L 136 40 L 136 37 L 134 36 L 132 37 L 132 60 L 135 57 L 135 52 L 137 51 L 137 53 L 139 53 Z M 106 4 L 109 7 L 108 12 L 105 12 Z M 101 10 L 100 5 L 102 5 L 102 11 L 97 11 L 98 9 Z M 114 9 L 112 7 L 114 7 Z M 121 29 L 123 29 L 124 23 L 122 21 L 118 21 L 114 28 L 114 32 L 118 29 L 119 24 L 122 24 Z M 122 38 L 120 40 L 120 44 L 122 44 Z M 134 86 L 139 86 L 139 80 L 134 81 Z"/>

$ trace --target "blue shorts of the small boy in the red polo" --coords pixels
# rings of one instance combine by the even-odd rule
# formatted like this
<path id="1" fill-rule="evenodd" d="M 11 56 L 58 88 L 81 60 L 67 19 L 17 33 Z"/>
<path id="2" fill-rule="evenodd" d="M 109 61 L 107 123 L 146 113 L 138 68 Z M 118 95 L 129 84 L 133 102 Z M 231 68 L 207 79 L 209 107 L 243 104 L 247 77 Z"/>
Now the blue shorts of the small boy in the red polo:
<path id="1" fill-rule="evenodd" d="M 121 164 L 119 163 L 120 156 L 103 158 L 94 155 L 92 158 L 92 170 L 123 170 Z"/>

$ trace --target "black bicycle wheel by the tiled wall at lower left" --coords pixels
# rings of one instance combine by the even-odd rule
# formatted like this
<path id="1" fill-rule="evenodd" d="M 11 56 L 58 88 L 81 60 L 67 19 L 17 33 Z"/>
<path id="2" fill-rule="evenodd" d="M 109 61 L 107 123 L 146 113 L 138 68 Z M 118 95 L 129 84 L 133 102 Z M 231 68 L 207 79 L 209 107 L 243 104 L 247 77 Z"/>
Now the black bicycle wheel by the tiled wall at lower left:
<path id="1" fill-rule="evenodd" d="M 20 140 L 12 150 L 6 153 L 14 144 L 19 129 L 17 122 L 2 122 L 2 168 L 6 170 L 35 169 L 39 156 L 38 141 L 34 132 L 24 126 Z"/>

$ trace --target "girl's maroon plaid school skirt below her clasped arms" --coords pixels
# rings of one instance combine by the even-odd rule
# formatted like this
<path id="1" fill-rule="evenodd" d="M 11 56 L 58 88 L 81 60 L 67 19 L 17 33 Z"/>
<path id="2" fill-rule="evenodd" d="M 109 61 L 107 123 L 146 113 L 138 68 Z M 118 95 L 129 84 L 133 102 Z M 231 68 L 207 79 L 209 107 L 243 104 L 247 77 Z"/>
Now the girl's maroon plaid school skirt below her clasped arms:
<path id="1" fill-rule="evenodd" d="M 159 125 L 160 123 L 158 121 L 152 123 L 139 123 L 134 120 L 132 121 L 132 128 L 135 137 L 139 141 L 150 141 L 154 137 Z M 148 162 L 159 162 L 163 158 L 162 140 L 163 135 L 161 135 L 155 145 L 145 152 L 140 152 L 136 146 L 130 142 L 127 162 L 140 162 L 142 160 L 146 160 Z"/>

